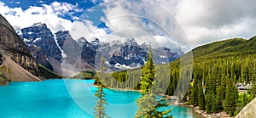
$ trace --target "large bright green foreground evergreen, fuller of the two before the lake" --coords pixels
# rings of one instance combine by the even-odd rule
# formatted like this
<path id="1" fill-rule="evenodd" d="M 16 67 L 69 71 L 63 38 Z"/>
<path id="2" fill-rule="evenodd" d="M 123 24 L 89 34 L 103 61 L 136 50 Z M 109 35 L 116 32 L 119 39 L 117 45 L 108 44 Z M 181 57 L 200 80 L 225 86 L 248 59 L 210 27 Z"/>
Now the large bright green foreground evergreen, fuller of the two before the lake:
<path id="1" fill-rule="evenodd" d="M 142 96 L 138 98 L 138 110 L 135 115 L 137 118 L 161 118 L 170 117 L 168 115 L 172 110 L 160 111 L 161 107 L 167 107 L 168 104 L 162 98 L 157 98 L 162 89 L 159 87 L 160 80 L 154 81 L 154 62 L 152 59 L 152 49 L 149 48 L 148 59 L 143 67 L 143 75 L 141 77 L 141 91 Z"/>

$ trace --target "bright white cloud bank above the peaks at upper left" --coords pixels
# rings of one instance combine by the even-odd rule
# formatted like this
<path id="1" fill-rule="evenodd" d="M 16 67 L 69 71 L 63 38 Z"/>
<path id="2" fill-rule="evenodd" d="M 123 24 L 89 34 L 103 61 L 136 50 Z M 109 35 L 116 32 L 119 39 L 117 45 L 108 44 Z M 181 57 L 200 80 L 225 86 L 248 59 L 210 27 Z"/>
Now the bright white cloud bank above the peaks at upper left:
<path id="1" fill-rule="evenodd" d="M 43 7 L 31 6 L 26 10 L 22 10 L 21 8 L 9 8 L 4 3 L 0 2 L 0 9 L 0 14 L 3 14 L 15 28 L 24 28 L 37 22 L 43 22 L 48 25 L 49 29 L 53 32 L 69 30 L 73 25 L 72 21 L 63 19 L 60 15 L 70 14 L 72 11 L 82 11 L 82 9 L 78 8 L 78 4 L 73 5 L 70 3 L 57 2 L 49 5 L 44 4 Z"/>

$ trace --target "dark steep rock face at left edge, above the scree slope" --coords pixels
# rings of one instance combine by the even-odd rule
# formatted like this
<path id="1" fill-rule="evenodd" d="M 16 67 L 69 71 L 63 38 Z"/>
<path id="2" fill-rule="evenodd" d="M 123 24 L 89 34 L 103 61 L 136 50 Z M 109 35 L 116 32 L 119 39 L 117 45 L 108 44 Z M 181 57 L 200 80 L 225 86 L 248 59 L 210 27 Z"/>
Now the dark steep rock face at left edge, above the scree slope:
<path id="1" fill-rule="evenodd" d="M 15 29 L 0 14 L 0 48 L 9 54 L 18 65 L 29 70 L 33 75 L 38 75 L 38 63 L 32 58 L 26 44 L 15 33 Z"/>

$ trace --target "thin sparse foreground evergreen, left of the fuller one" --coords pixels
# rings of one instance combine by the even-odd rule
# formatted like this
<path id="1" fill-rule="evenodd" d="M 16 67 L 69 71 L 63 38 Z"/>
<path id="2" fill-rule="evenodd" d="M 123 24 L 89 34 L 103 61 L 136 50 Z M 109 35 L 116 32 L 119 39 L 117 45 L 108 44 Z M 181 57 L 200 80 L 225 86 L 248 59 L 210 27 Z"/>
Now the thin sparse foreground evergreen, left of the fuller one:
<path id="1" fill-rule="evenodd" d="M 99 72 L 98 74 L 98 79 L 97 81 L 98 84 L 99 84 L 99 87 L 97 87 L 97 91 L 95 93 L 95 96 L 96 96 L 96 99 L 98 100 L 97 103 L 96 103 L 96 106 L 95 106 L 95 117 L 96 118 L 107 118 L 108 115 L 106 113 L 106 110 L 105 110 L 105 106 L 106 104 L 108 104 L 106 102 L 106 93 L 104 93 L 103 91 L 103 83 L 102 83 L 102 77 L 104 77 L 104 70 L 105 70 L 105 67 L 104 67 L 104 63 L 105 63 L 105 59 L 102 58 L 102 63 L 101 63 L 101 71 Z"/>

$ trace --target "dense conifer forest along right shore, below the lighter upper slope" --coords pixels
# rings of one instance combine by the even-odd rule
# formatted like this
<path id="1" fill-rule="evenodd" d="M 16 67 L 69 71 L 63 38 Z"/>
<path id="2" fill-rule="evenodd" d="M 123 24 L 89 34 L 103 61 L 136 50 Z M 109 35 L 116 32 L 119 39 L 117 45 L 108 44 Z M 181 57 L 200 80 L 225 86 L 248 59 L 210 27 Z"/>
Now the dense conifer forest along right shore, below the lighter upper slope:
<path id="1" fill-rule="evenodd" d="M 256 54 L 229 56 L 218 59 L 195 59 L 192 81 L 183 102 L 199 106 L 208 114 L 225 111 L 236 115 L 256 94 Z M 142 68 L 123 70 L 104 78 L 107 87 L 142 89 Z M 166 95 L 174 95 L 180 78 L 180 60 L 166 65 L 155 65 L 155 79 L 166 88 Z M 253 88 L 239 94 L 236 83 L 252 83 Z"/>

